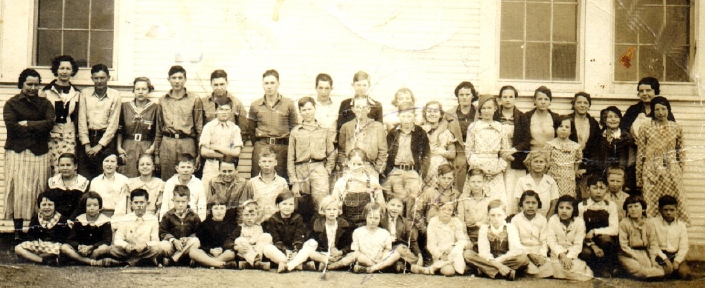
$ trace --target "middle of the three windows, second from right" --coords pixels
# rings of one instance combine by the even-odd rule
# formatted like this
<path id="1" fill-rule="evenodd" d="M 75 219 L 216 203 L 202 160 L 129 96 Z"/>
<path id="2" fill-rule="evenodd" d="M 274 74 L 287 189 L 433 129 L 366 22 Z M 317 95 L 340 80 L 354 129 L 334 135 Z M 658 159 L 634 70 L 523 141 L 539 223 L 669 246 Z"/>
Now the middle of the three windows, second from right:
<path id="1" fill-rule="evenodd" d="M 501 5 L 500 78 L 577 80 L 577 0 L 502 0 Z"/>

